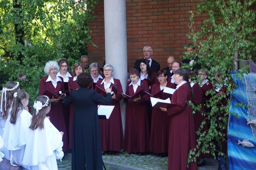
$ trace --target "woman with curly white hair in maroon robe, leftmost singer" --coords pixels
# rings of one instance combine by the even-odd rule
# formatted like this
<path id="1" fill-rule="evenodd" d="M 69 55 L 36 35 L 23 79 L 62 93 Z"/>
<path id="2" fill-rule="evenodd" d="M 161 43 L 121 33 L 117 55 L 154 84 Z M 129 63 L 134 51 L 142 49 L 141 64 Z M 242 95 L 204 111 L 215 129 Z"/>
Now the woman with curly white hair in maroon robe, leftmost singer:
<path id="1" fill-rule="evenodd" d="M 62 92 L 65 92 L 63 78 L 56 76 L 59 71 L 59 65 L 56 61 L 48 61 L 44 66 L 44 72 L 48 75 L 43 77 L 40 81 L 40 95 L 45 95 L 45 90 L 49 90 L 54 95 L 60 96 Z M 55 99 L 53 96 L 50 97 L 51 111 L 47 114 L 50 117 L 51 123 L 57 128 L 60 132 L 62 131 L 63 137 L 63 152 L 68 151 L 68 136 L 66 130 L 66 124 L 63 114 L 63 104 L 62 100 L 66 95 L 63 95 L 61 98 Z"/>

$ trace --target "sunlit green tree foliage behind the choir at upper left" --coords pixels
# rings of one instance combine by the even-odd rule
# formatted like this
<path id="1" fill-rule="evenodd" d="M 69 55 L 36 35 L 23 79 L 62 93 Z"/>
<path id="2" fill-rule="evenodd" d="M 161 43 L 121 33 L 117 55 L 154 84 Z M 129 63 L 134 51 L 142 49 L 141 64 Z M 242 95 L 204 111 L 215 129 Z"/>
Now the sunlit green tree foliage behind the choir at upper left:
<path id="1" fill-rule="evenodd" d="M 39 95 L 40 79 L 46 76 L 43 67 L 47 61 L 67 58 L 73 65 L 87 52 L 87 44 L 93 44 L 89 21 L 96 17 L 92 11 L 96 3 L 97 0 L 1 1 L 0 76 L 17 81 L 20 74 L 25 74 L 21 85 L 32 103 Z"/>

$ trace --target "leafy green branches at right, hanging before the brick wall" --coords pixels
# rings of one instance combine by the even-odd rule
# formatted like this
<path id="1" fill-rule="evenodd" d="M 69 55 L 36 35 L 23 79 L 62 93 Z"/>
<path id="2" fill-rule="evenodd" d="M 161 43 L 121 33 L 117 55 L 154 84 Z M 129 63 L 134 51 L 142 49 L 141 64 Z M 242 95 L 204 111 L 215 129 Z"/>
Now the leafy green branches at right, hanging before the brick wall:
<path id="1" fill-rule="evenodd" d="M 238 59 L 247 60 L 255 56 L 256 11 L 253 10 L 253 5 L 256 6 L 255 0 L 197 0 L 196 13 L 207 15 L 200 29 L 195 28 L 194 13 L 191 12 L 190 32 L 187 37 L 193 40 L 196 50 L 192 55 L 186 53 L 184 58 L 191 60 L 198 57 L 193 65 L 198 63 L 209 69 L 208 78 L 213 83 L 213 87 L 221 87 L 220 85 L 224 84 L 227 93 L 216 95 L 214 91 L 208 92 L 211 99 L 206 105 L 210 112 L 203 113 L 208 118 L 202 122 L 201 128 L 208 121 L 209 131 L 201 132 L 201 128 L 197 129 L 199 135 L 197 148 L 190 151 L 188 161 L 195 160 L 195 155 L 201 153 L 211 153 L 214 158 L 217 155 L 227 156 L 227 153 L 222 152 L 221 142 L 227 139 L 229 92 L 235 87 L 230 73 L 237 71 L 237 78 L 241 78 L 243 73 L 247 73 L 248 66 L 238 67 Z M 185 66 L 185 68 L 190 67 Z M 225 74 L 226 82 L 214 80 L 218 71 Z M 227 104 L 223 105 L 221 101 L 226 101 Z M 200 110 L 200 106 L 193 107 Z"/>

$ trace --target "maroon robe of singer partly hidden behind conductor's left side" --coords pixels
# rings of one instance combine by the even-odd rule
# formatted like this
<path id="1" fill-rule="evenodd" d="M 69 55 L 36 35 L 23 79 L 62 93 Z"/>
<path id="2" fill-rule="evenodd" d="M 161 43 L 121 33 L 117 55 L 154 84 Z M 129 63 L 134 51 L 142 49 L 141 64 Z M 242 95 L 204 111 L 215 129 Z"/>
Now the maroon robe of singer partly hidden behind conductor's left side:
<path id="1" fill-rule="evenodd" d="M 69 93 L 71 94 L 71 88 L 76 90 L 80 89 L 79 85 L 77 84 L 76 80 L 74 81 L 73 77 L 69 78 L 68 81 L 68 86 L 69 86 Z M 70 105 L 70 110 L 69 110 L 69 149 L 72 149 L 72 134 L 73 134 L 73 118 L 74 118 L 74 103 Z"/>

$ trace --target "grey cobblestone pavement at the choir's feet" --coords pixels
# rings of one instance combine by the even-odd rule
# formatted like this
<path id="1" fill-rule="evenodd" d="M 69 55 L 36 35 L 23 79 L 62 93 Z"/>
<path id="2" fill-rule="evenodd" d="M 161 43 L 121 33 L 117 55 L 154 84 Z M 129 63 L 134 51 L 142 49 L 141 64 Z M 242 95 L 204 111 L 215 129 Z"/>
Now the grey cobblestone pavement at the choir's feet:
<path id="1" fill-rule="evenodd" d="M 166 170 L 168 168 L 168 158 L 161 158 L 154 154 L 135 155 L 121 152 L 117 154 L 106 154 L 102 156 L 102 159 L 106 165 L 107 170 L 123 170 L 123 169 L 161 169 Z M 212 158 L 205 159 L 206 165 L 199 167 L 198 170 L 217 170 L 218 161 Z M 65 159 L 60 162 L 57 160 L 59 170 L 71 169 L 71 160 L 66 156 Z"/>

